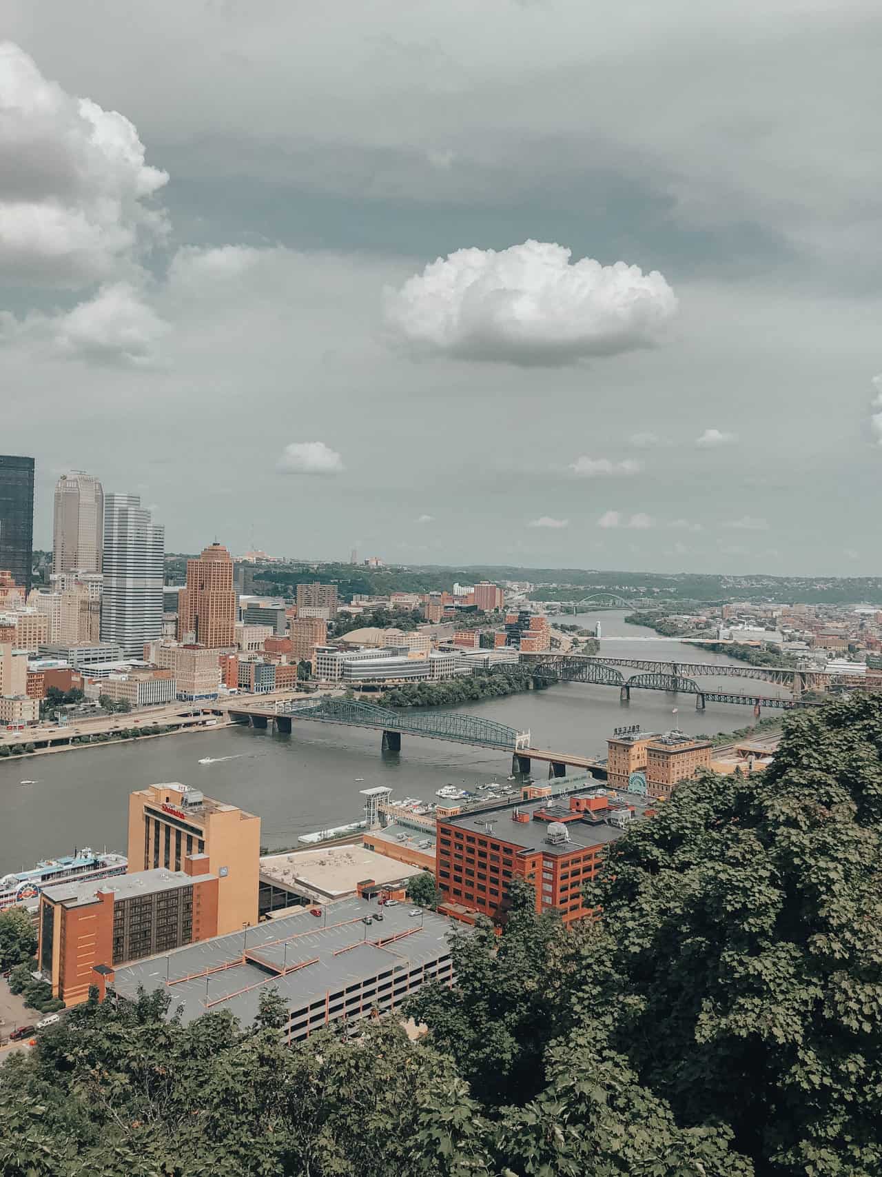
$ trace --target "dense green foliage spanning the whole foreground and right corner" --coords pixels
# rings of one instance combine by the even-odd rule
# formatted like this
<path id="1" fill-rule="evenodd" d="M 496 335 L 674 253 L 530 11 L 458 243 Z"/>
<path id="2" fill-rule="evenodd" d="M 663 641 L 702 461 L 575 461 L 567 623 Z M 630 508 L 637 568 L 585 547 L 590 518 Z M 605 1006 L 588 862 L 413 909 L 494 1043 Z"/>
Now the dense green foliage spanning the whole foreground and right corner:
<path id="1" fill-rule="evenodd" d="M 286 1048 L 162 997 L 78 1008 L 0 1068 L 9 1177 L 878 1177 L 882 700 L 786 720 L 613 843 L 567 930 L 514 883 L 457 984 Z M 361 1036 L 363 1033 L 363 1037 Z"/>

